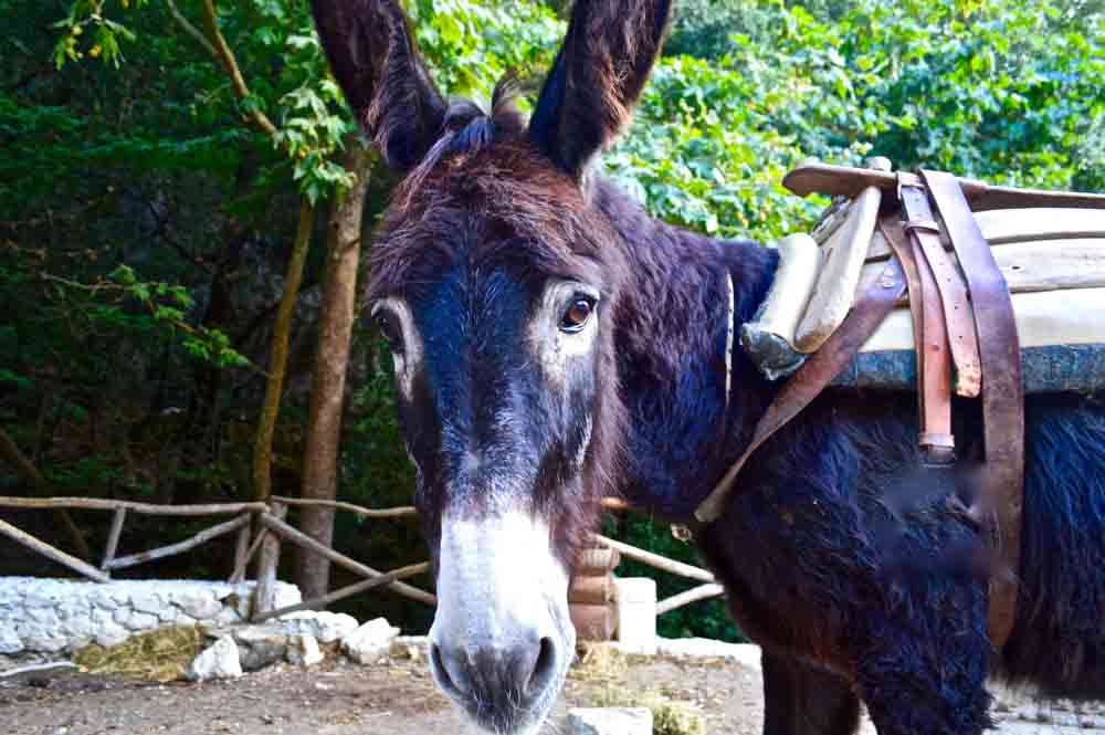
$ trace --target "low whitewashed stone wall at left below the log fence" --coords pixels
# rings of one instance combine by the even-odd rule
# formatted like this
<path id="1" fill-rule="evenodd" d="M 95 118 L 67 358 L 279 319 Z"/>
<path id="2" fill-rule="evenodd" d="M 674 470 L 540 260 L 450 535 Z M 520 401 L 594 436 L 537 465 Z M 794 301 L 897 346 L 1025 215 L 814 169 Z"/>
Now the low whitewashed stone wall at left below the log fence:
<path id="1" fill-rule="evenodd" d="M 61 658 L 88 643 L 115 645 L 167 626 L 243 622 L 253 585 L 0 577 L 0 657 Z M 277 582 L 277 607 L 301 601 L 297 587 Z"/>

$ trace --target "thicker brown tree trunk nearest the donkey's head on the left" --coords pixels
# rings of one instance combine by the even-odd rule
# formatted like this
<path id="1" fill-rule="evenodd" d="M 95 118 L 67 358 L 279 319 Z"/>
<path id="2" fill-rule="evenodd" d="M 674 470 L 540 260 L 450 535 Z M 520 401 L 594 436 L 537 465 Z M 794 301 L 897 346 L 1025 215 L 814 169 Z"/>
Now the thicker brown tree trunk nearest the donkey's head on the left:
<path id="1" fill-rule="evenodd" d="M 357 295 L 361 214 L 371 162 L 372 157 L 367 150 L 357 143 L 350 143 L 343 165 L 356 180 L 347 193 L 335 200 L 330 212 L 303 458 L 302 495 L 307 498 L 334 500 L 337 496 L 338 444 Z M 299 529 L 320 544 L 330 546 L 334 540 L 334 508 L 302 507 Z M 304 599 L 326 595 L 329 574 L 328 559 L 306 549 L 297 549 L 295 580 Z"/>

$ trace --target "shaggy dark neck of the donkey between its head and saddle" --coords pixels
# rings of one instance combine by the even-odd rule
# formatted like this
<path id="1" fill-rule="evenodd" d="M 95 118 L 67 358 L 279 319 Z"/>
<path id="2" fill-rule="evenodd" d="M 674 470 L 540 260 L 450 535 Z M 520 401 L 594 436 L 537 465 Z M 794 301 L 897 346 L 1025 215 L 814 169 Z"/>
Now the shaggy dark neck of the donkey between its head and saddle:
<path id="1" fill-rule="evenodd" d="M 596 182 L 593 203 L 621 235 L 629 272 L 614 335 L 628 413 L 622 492 L 634 504 L 686 518 L 775 392 L 735 345 L 727 396 L 725 351 L 729 329 L 739 335 L 765 298 L 778 256 L 754 242 L 659 222 L 604 181 Z"/>

